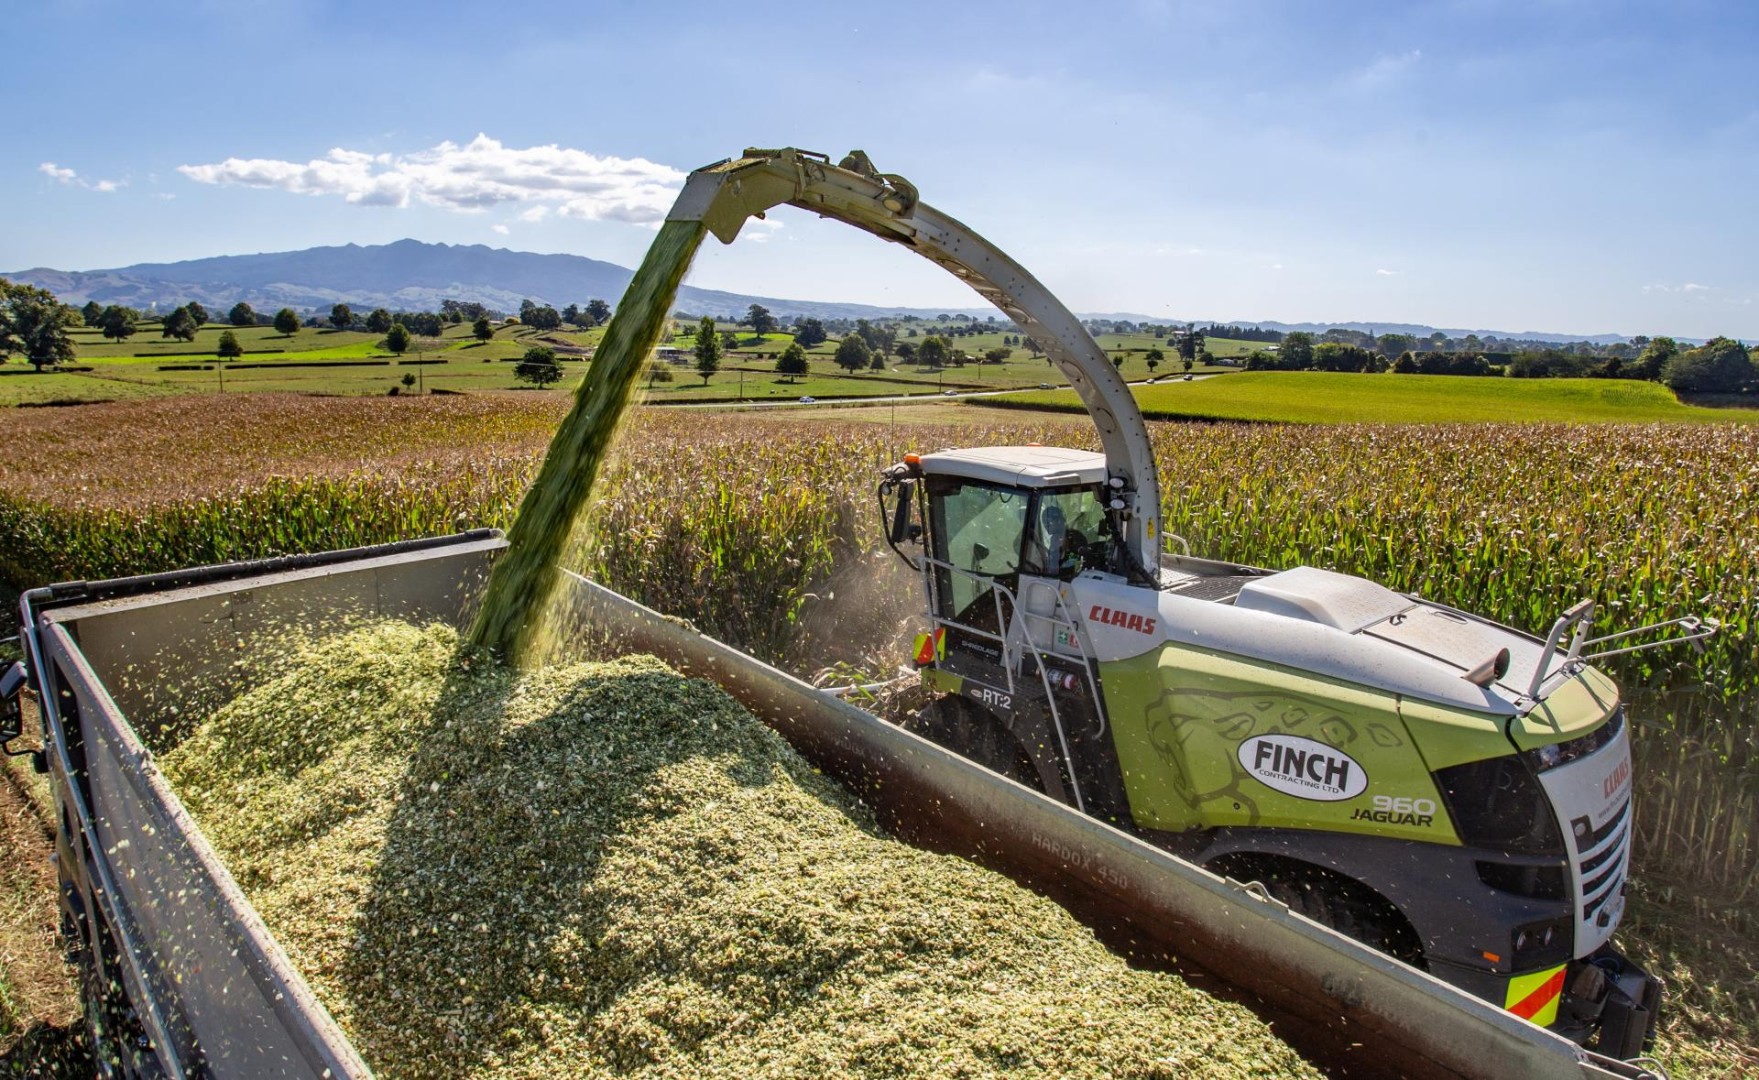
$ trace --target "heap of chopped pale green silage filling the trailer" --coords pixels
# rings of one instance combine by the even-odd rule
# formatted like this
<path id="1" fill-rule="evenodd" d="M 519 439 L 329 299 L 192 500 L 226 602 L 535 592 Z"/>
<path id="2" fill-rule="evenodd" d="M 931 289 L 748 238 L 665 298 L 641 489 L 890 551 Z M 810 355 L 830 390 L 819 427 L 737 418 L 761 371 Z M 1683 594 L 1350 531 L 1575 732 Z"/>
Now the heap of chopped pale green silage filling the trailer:
<path id="1" fill-rule="evenodd" d="M 1316 1075 L 651 658 L 278 672 L 162 767 L 380 1076 Z"/>

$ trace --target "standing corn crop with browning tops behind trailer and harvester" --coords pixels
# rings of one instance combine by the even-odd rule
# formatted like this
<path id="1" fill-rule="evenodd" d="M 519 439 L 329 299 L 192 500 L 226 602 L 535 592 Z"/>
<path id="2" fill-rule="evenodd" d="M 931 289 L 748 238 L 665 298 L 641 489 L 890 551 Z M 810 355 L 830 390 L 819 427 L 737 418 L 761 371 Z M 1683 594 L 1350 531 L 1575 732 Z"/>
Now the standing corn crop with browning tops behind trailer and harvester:
<path id="1" fill-rule="evenodd" d="M 262 396 L 83 412 L 104 422 L 42 410 L 16 424 L 0 463 L 0 579 L 505 528 L 561 403 Z M 883 464 L 908 449 L 1092 445 L 1050 419 L 887 427 L 654 412 L 603 477 L 575 568 L 793 667 L 811 661 L 795 651 L 814 589 L 880 545 Z M 1719 617 L 1703 656 L 1608 667 L 1632 700 L 1648 869 L 1759 892 L 1759 433 L 1186 424 L 1154 438 L 1166 526 L 1198 554 L 1360 573 L 1537 633 L 1581 598 L 1601 631 Z"/>

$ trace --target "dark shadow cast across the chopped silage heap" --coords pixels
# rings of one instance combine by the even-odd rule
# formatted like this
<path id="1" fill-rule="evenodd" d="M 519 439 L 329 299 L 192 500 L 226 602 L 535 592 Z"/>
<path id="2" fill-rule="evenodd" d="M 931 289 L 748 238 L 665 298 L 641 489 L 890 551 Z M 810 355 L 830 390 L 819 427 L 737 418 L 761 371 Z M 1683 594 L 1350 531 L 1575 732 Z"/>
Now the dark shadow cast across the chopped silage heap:
<path id="1" fill-rule="evenodd" d="M 797 760 L 777 762 L 779 739 L 718 690 L 635 665 L 586 679 L 522 723 L 507 721 L 517 691 L 505 679 L 489 695 L 470 679 L 447 686 L 338 973 L 354 1001 L 354 1043 L 382 1075 L 461 1075 L 531 1055 L 552 1036 L 570 1043 L 556 1050 L 556 1068 L 582 1066 L 582 1048 L 640 1066 L 723 1033 L 728 1001 L 744 1022 L 809 1001 L 846 960 L 820 950 L 802 969 L 790 952 L 786 971 L 728 967 L 668 938 L 661 911 L 619 922 L 642 897 L 607 879 L 603 864 L 623 837 L 690 809 L 691 792 L 681 797 L 661 776 L 672 765 L 712 758 L 742 788 L 792 779 L 872 832 L 853 800 Z M 704 837 L 675 855 L 700 858 L 702 872 L 742 855 L 716 843 Z M 626 989 L 658 973 L 712 990 L 719 1008 L 649 1011 L 646 1025 L 602 1022 Z"/>

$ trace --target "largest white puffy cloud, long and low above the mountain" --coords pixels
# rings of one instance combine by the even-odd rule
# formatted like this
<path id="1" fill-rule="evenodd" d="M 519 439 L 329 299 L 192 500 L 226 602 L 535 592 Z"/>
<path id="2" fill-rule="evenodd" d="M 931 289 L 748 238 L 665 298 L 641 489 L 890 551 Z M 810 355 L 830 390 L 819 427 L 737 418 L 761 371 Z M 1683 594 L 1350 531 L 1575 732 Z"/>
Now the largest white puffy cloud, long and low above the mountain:
<path id="1" fill-rule="evenodd" d="M 508 202 L 531 204 L 521 220 L 549 213 L 631 223 L 665 218 L 684 174 L 646 158 L 614 158 L 565 146 L 503 146 L 487 135 L 442 142 L 408 155 L 332 150 L 311 162 L 227 158 L 178 165 L 197 183 L 280 188 L 299 195 L 341 195 L 359 206 L 424 202 L 478 213 Z"/>

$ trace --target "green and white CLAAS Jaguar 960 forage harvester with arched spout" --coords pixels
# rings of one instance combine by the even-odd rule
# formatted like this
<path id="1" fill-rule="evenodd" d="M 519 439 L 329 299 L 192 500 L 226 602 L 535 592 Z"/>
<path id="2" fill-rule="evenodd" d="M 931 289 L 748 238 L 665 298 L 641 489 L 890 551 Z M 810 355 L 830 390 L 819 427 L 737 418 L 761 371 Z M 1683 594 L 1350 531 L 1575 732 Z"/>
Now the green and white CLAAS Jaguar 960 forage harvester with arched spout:
<path id="1" fill-rule="evenodd" d="M 1604 1054 L 1641 1050 L 1660 987 L 1609 945 L 1629 728 L 1590 665 L 1713 623 L 1590 642 L 1581 605 L 1541 640 L 1344 573 L 1196 558 L 1163 535 L 1149 427 L 1106 354 L 902 178 L 748 150 L 693 172 L 668 220 L 730 243 L 779 204 L 971 285 L 1098 433 L 1099 452 L 964 449 L 885 473 L 887 542 L 927 602 L 915 660 L 938 697 L 916 733 Z"/>

